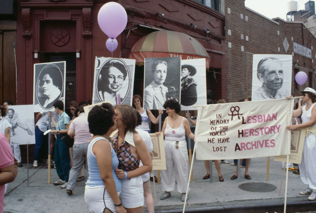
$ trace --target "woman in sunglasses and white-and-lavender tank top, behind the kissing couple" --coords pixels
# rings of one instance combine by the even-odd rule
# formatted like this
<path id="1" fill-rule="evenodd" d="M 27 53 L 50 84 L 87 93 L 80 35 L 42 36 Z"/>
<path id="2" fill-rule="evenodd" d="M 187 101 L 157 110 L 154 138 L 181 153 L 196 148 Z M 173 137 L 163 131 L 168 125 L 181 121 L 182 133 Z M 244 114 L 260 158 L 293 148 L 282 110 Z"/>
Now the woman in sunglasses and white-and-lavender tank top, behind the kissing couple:
<path id="1" fill-rule="evenodd" d="M 153 124 L 158 124 L 159 117 L 155 118 L 153 113 L 151 113 L 149 109 L 144 109 L 142 105 L 143 105 L 143 100 L 140 97 L 140 95 L 134 95 L 132 106 L 136 109 L 137 112 L 139 112 L 143 120 L 142 125 L 139 125 L 138 128 L 150 133 L 149 120 Z M 162 114 L 162 110 L 159 110 L 159 114 Z"/>

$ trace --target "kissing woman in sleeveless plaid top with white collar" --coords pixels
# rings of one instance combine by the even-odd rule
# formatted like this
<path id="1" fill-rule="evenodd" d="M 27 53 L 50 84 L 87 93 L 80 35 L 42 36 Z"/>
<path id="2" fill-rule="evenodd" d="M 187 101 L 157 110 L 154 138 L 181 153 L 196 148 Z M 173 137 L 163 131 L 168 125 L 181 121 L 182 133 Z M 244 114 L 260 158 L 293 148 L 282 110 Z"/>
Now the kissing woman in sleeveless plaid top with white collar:
<path id="1" fill-rule="evenodd" d="M 119 159 L 116 174 L 122 179 L 120 198 L 127 212 L 143 212 L 143 180 L 140 175 L 152 170 L 153 164 L 145 142 L 135 128 L 137 112 L 129 105 L 114 106 L 118 129 L 111 135 L 112 148 Z M 143 166 L 139 166 L 139 161 Z"/>

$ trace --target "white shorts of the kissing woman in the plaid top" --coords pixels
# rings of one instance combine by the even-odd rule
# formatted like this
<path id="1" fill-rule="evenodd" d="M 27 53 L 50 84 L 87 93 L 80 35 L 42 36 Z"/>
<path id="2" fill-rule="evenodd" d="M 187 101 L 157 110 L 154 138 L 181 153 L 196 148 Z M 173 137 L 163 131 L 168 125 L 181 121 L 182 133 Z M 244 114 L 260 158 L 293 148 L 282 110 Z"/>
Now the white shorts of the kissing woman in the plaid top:
<path id="1" fill-rule="evenodd" d="M 122 180 L 122 191 L 119 195 L 123 207 L 137 208 L 144 205 L 143 180 L 141 176 Z"/>

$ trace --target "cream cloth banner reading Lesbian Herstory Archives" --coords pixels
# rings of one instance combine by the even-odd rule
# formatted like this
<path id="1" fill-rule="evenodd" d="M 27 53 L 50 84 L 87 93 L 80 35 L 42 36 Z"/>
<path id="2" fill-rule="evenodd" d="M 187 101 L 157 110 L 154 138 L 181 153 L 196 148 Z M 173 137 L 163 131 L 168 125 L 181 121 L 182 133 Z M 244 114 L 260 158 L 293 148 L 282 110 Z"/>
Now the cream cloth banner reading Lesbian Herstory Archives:
<path id="1" fill-rule="evenodd" d="M 290 154 L 294 100 L 276 99 L 203 105 L 198 108 L 198 160 Z"/>

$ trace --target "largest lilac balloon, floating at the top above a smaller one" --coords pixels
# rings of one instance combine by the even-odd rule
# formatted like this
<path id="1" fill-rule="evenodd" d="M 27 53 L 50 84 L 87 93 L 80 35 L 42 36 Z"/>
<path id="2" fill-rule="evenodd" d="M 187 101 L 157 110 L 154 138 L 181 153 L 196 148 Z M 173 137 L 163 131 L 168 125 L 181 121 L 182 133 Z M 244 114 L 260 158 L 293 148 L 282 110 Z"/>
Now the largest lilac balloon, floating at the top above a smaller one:
<path id="1" fill-rule="evenodd" d="M 123 32 L 127 24 L 127 14 L 119 3 L 108 2 L 98 13 L 98 23 L 101 30 L 110 38 L 115 39 Z"/>

